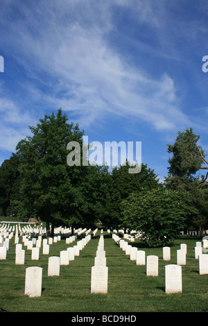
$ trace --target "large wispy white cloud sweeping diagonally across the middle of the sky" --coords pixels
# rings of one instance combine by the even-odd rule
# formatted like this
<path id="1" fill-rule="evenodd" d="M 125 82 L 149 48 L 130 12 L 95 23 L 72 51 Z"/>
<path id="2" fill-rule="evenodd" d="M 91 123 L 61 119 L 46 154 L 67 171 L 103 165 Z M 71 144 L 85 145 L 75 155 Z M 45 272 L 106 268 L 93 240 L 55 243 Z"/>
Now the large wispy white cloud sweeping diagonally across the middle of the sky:
<path id="1" fill-rule="evenodd" d="M 169 76 L 165 74 L 159 80 L 146 76 L 110 49 L 99 33 L 86 31 L 78 24 L 67 28 L 62 36 L 58 49 L 49 46 L 51 37 L 47 37 L 37 42 L 31 53 L 36 58 L 33 74 L 42 67 L 55 80 L 50 85 L 52 94 L 33 90 L 44 101 L 57 103 L 64 110 L 80 110 L 91 119 L 98 112 L 136 117 L 158 130 L 174 128 L 178 114 L 186 119 L 177 106 L 174 83 Z"/>

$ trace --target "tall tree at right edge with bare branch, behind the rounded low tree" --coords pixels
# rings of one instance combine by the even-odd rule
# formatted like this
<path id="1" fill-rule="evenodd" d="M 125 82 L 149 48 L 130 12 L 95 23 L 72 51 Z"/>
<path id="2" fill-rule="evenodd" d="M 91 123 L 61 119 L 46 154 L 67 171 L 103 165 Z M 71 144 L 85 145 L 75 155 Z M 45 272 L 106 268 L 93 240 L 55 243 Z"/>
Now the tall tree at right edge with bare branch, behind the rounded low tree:
<path id="1" fill-rule="evenodd" d="M 166 189 L 191 191 L 193 202 L 191 205 L 198 209 L 187 223 L 188 228 L 201 230 L 207 228 L 207 175 L 200 175 L 200 171 L 208 169 L 208 162 L 205 159 L 205 150 L 198 145 L 199 135 L 193 129 L 184 132 L 177 132 L 177 138 L 173 145 L 168 145 L 168 153 L 172 156 L 168 159 L 168 177 L 165 178 Z"/>

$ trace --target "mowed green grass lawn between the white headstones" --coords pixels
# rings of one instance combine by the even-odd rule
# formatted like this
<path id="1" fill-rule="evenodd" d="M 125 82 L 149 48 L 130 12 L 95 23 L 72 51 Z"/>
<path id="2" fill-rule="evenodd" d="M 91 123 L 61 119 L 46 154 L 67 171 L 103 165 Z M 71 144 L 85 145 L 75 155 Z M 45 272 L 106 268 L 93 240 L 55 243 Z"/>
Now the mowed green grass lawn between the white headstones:
<path id="1" fill-rule="evenodd" d="M 10 240 L 6 260 L 0 261 L 0 308 L 10 312 L 199 312 L 208 308 L 208 275 L 199 275 L 198 259 L 194 247 L 198 237 L 179 237 L 171 246 L 171 261 L 162 259 L 162 248 L 144 248 L 139 241 L 130 243 L 147 255 L 159 257 L 159 276 L 146 276 L 146 266 L 137 266 L 130 256 L 107 232 L 104 249 L 108 267 L 107 294 L 91 294 L 91 268 L 101 232 L 96 233 L 80 250 L 80 256 L 60 266 L 60 276 L 47 276 L 48 260 L 59 256 L 61 250 L 75 246 L 76 241 L 66 244 L 62 239 L 50 245 L 50 254 L 31 260 L 31 250 L 26 250 L 24 265 L 15 265 L 15 238 Z M 21 237 L 19 237 L 21 240 Z M 20 242 L 21 243 L 21 242 Z M 187 265 L 182 266 L 182 293 L 166 294 L 164 266 L 176 264 L 176 250 L 180 243 L 187 243 Z M 40 266 L 42 295 L 29 298 L 24 295 L 26 268 Z"/>

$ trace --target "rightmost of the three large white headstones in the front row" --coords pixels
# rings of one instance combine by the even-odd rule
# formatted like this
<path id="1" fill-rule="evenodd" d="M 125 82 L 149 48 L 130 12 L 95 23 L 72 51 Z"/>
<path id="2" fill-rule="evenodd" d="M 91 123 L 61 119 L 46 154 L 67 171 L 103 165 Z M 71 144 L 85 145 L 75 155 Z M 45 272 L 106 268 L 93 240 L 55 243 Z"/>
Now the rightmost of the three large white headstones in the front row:
<path id="1" fill-rule="evenodd" d="M 165 266 L 166 293 L 182 293 L 182 267 L 179 265 Z"/>

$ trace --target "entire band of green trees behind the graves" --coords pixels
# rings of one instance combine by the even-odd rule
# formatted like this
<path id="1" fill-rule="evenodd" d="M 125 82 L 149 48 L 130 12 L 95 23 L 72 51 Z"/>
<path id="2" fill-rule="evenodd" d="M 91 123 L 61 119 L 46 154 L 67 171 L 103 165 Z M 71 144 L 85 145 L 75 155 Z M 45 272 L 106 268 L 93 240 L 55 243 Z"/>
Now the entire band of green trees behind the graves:
<path id="1" fill-rule="evenodd" d="M 67 144 L 78 141 L 83 152 L 84 130 L 69 123 L 61 109 L 29 128 L 32 136 L 19 141 L 16 153 L 1 164 L 3 214 L 12 210 L 21 221 L 40 218 L 47 236 L 56 225 L 101 222 L 106 228 L 135 229 L 148 246 L 164 246 L 185 228 L 207 228 L 205 176 L 194 177 L 206 162 L 205 153 L 193 130 L 179 133 L 168 146 L 173 156 L 161 184 L 147 164 L 141 164 L 139 173 L 128 173 L 128 162 L 112 171 L 108 166 L 69 166 Z"/>

